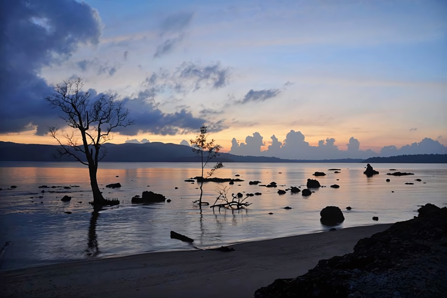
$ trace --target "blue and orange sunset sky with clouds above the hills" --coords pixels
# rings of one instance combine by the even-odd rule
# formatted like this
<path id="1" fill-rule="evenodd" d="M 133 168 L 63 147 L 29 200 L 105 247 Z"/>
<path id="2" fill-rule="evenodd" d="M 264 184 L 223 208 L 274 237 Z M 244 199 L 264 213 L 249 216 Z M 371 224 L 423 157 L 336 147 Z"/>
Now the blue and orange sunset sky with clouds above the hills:
<path id="1" fill-rule="evenodd" d="M 131 110 L 113 143 L 181 143 L 205 123 L 243 155 L 445 152 L 446 1 L 1 5 L 0 141 L 53 144 L 65 126 L 44 99 L 81 77 Z"/>

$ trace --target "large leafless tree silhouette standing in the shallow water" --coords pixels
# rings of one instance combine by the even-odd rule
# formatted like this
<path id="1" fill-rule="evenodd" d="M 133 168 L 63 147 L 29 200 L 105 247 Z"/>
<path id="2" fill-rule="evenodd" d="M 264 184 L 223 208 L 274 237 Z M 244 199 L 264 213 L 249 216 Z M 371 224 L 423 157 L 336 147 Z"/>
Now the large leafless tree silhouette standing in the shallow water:
<path id="1" fill-rule="evenodd" d="M 58 149 L 59 159 L 63 155 L 70 155 L 89 166 L 93 203 L 104 204 L 106 200 L 96 179 L 98 162 L 107 154 L 102 144 L 112 139 L 111 130 L 118 126 L 132 125 L 133 122 L 126 122 L 129 110 L 124 109 L 121 102 L 114 101 L 112 95 L 102 95 L 99 99 L 91 101 L 89 92 L 81 91 L 83 86 L 80 78 L 64 80 L 54 87 L 55 93 L 52 96 L 46 97 L 47 101 L 64 113 L 59 117 L 65 120 L 68 126 L 79 130 L 82 144 L 78 144 L 74 132 L 61 134 L 66 139 L 66 145 L 62 143 L 56 126 L 50 127 L 50 133 L 61 146 Z M 81 155 L 85 155 L 87 162 L 82 160 Z"/>

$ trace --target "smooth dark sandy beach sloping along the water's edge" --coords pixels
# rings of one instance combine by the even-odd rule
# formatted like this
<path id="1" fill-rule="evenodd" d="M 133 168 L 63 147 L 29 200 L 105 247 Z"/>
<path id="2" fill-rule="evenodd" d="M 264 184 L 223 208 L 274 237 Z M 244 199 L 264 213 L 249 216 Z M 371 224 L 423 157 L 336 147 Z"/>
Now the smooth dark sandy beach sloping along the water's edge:
<path id="1" fill-rule="evenodd" d="M 353 252 L 391 224 L 231 245 L 233 252 L 156 252 L 0 272 L 1 297 L 253 297 L 321 259 Z"/>

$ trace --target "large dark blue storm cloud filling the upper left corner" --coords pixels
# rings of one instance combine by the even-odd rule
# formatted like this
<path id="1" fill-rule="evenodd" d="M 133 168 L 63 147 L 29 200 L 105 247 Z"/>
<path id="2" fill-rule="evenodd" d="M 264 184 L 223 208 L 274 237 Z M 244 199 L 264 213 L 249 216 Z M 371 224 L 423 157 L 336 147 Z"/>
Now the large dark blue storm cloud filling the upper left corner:
<path id="1" fill-rule="evenodd" d="M 38 73 L 55 56 L 67 59 L 79 43 L 97 44 L 101 20 L 74 0 L 2 1 L 1 10 L 0 133 L 38 126 L 45 134 L 58 117 L 44 100 L 53 90 Z"/>

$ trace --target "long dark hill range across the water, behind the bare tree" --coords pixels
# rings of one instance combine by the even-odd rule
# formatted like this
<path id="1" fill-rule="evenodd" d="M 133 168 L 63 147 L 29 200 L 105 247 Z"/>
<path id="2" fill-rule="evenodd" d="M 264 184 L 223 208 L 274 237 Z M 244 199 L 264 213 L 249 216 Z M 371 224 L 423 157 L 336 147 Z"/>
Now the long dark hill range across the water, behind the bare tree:
<path id="1" fill-rule="evenodd" d="M 102 161 L 109 162 L 200 162 L 191 147 L 173 143 L 124 143 L 104 145 L 107 148 L 107 156 Z M 0 142 L 0 161 L 58 161 L 54 155 L 58 146 L 41 144 L 20 144 L 12 142 Z M 82 160 L 82 155 L 79 155 Z M 61 161 L 76 161 L 74 158 L 64 156 Z M 324 160 L 300 160 L 280 159 L 265 156 L 240 156 L 229 153 L 219 153 L 213 162 L 239 162 L 239 163 L 358 163 L 363 159 L 324 159 Z"/>

